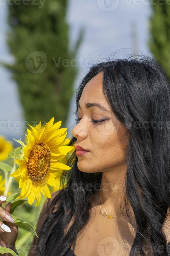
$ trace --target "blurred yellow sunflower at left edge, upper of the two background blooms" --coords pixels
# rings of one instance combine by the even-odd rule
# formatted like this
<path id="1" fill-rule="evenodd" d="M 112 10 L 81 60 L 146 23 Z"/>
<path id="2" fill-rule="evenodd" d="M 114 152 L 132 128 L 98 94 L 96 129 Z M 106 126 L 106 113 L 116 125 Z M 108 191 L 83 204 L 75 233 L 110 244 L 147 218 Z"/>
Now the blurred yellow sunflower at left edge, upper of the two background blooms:
<path id="1" fill-rule="evenodd" d="M 12 149 L 12 142 L 7 141 L 6 137 L 0 136 L 0 161 L 5 160 Z"/>

